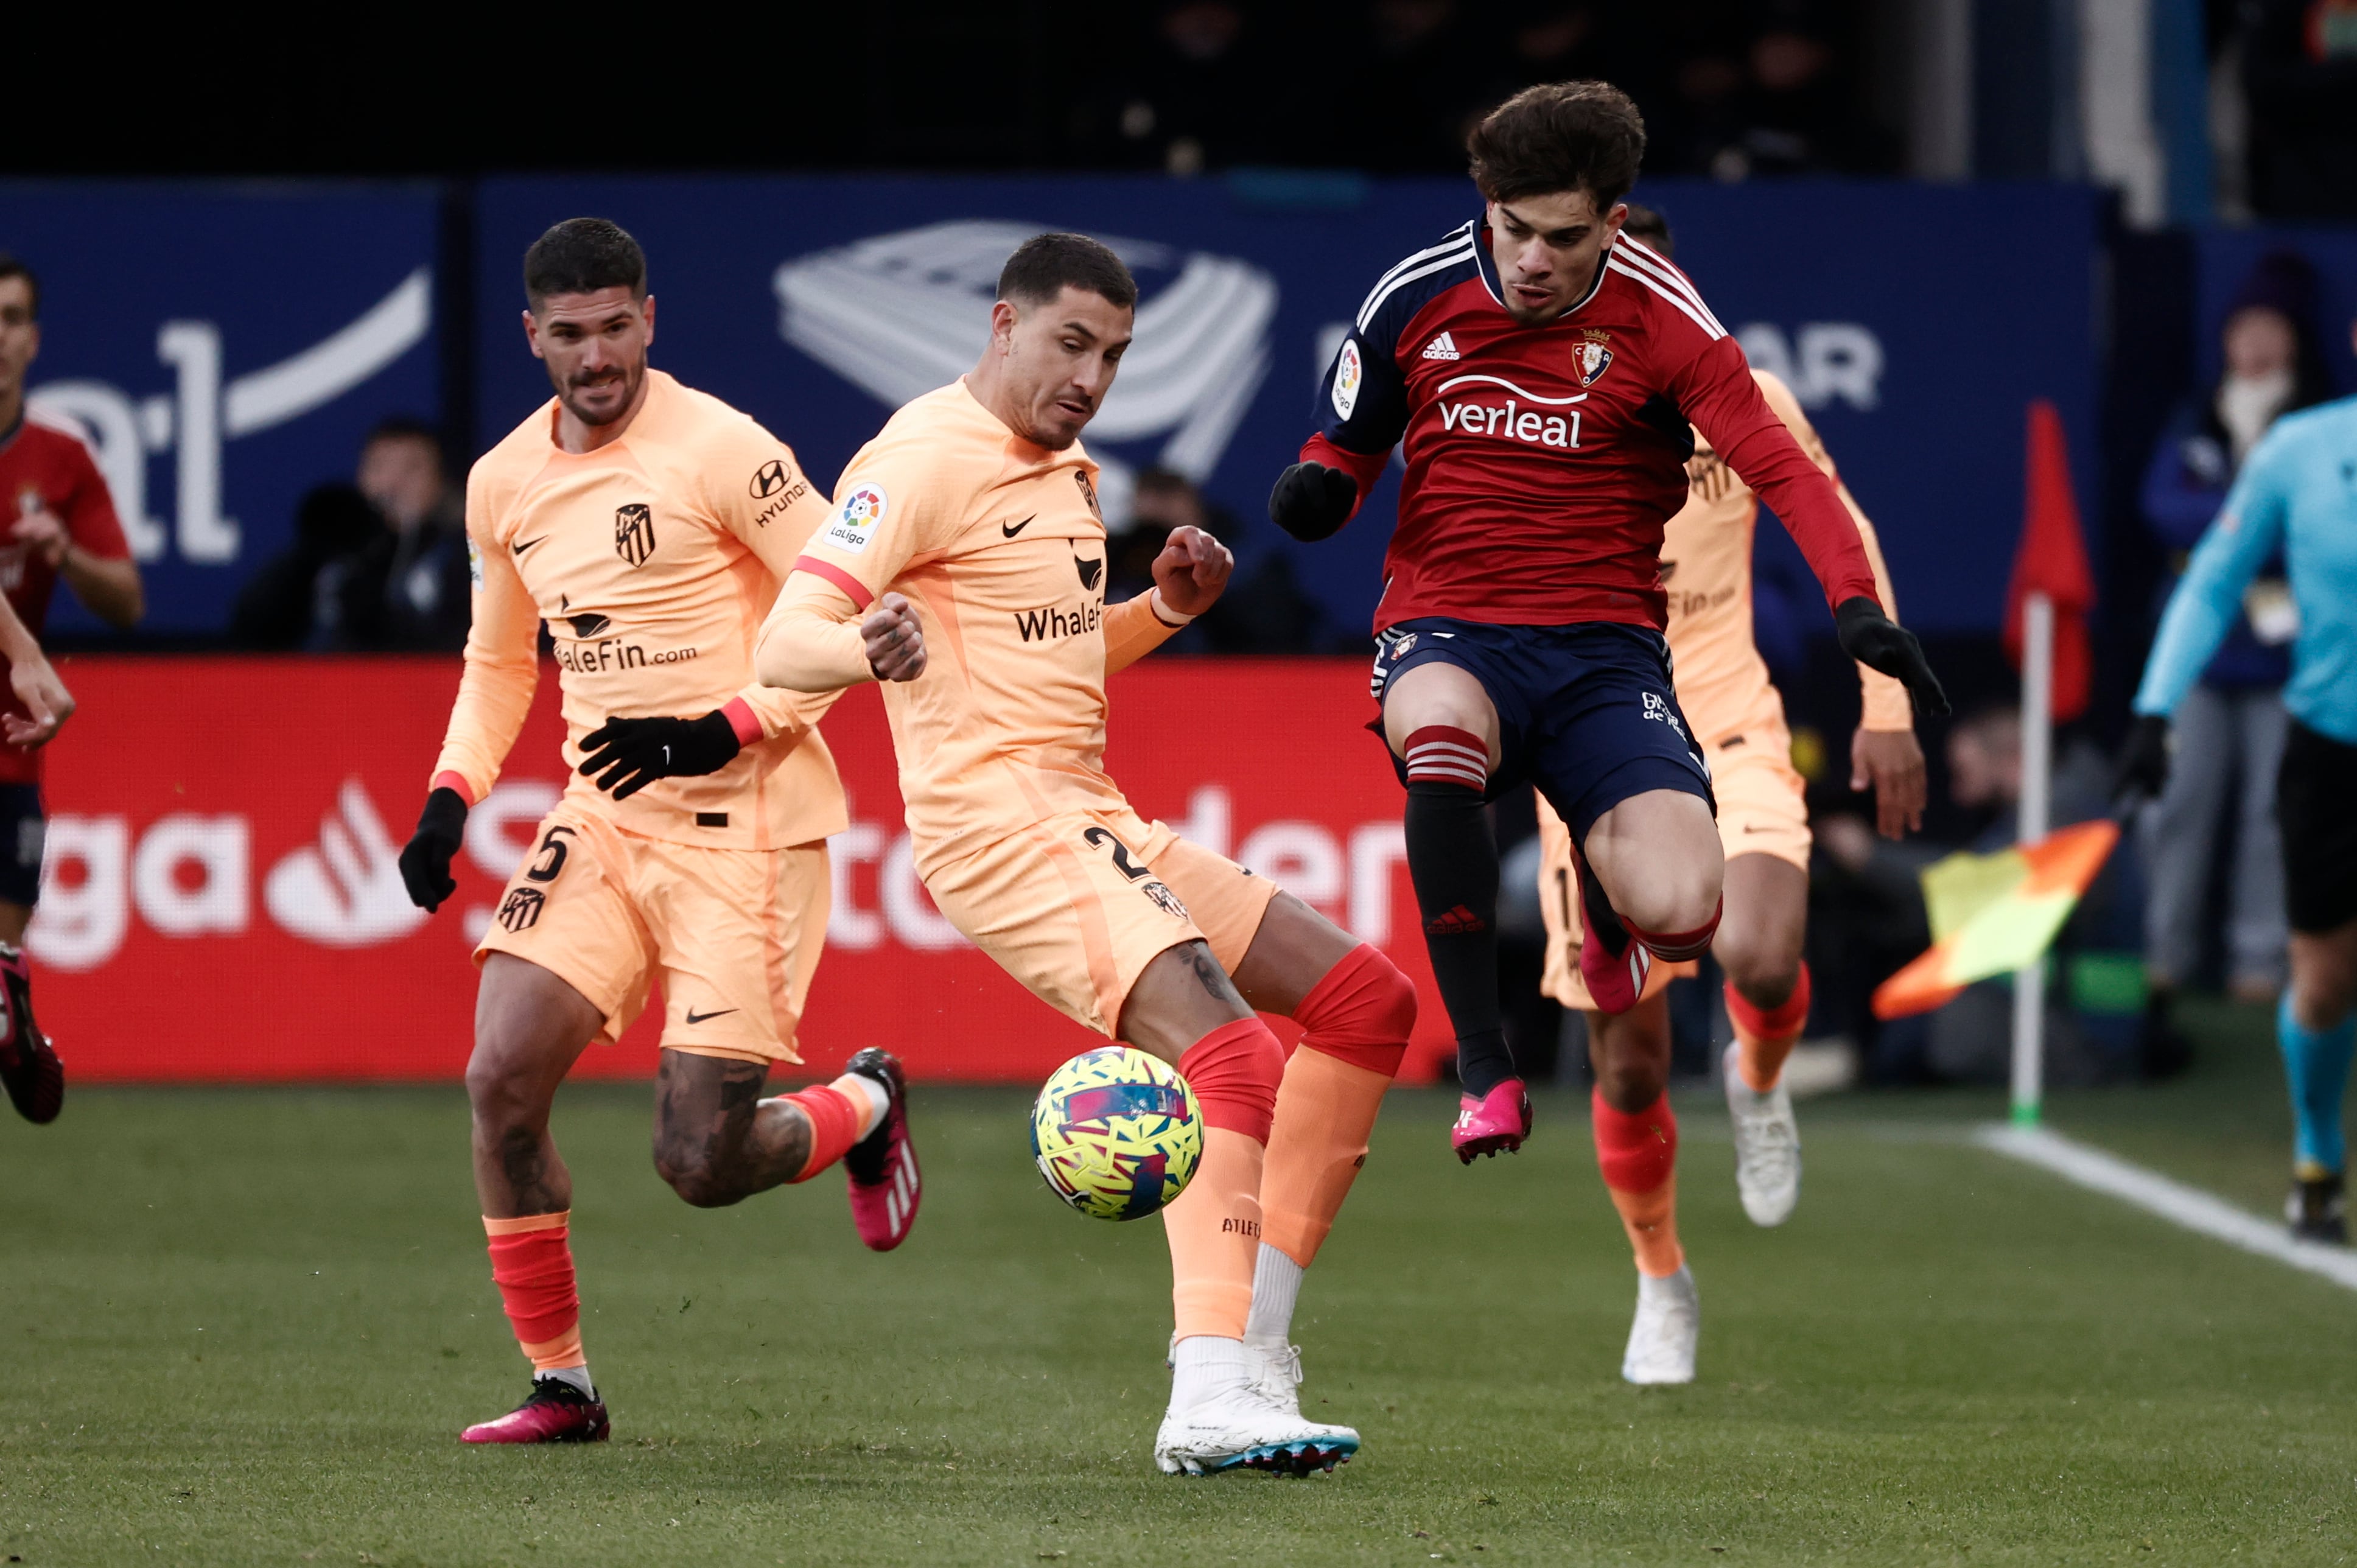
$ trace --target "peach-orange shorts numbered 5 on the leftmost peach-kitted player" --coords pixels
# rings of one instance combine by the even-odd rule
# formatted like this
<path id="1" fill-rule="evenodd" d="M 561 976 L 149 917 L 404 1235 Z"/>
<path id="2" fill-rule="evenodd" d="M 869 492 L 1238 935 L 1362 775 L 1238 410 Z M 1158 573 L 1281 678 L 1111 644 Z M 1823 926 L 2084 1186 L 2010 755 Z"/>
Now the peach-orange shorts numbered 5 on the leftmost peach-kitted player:
<path id="1" fill-rule="evenodd" d="M 559 804 L 474 950 L 540 964 L 622 1037 L 662 979 L 662 1045 L 801 1061 L 794 1026 L 827 938 L 827 846 L 705 849 Z"/>

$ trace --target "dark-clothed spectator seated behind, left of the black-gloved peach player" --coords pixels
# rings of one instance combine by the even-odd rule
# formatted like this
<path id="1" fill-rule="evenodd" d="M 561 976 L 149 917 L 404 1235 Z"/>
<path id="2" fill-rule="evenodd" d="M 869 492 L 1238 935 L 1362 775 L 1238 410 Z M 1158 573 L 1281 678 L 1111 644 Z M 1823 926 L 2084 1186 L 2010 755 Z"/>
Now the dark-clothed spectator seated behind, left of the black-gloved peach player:
<path id="1" fill-rule="evenodd" d="M 304 495 L 295 542 L 238 594 L 229 639 L 255 651 L 431 653 L 467 644 L 467 523 L 441 441 L 396 415 L 354 483 Z"/>

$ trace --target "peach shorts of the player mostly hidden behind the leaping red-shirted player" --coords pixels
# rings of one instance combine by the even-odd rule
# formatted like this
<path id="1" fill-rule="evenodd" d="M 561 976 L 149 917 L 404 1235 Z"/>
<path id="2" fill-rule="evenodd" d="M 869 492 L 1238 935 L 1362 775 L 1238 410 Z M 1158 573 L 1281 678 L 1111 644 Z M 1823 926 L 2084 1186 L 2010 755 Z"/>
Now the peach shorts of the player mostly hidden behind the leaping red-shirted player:
<path id="1" fill-rule="evenodd" d="M 1735 759 L 1730 762 L 1730 752 Z M 1770 854 L 1808 870 L 1808 797 L 1791 766 L 1791 740 L 1784 726 L 1751 726 L 1737 747 L 1711 743 L 1711 795 L 1718 799 L 1718 846 L 1732 861 L 1747 854 Z M 1546 915 L 1546 969 L 1539 990 L 1565 1007 L 1589 1009 L 1589 988 L 1579 979 L 1579 884 L 1572 872 L 1572 830 L 1549 804 L 1539 802 L 1539 910 Z M 1695 962 L 1655 964 L 1645 995 L 1664 990 L 1673 979 L 1695 974 Z"/>

